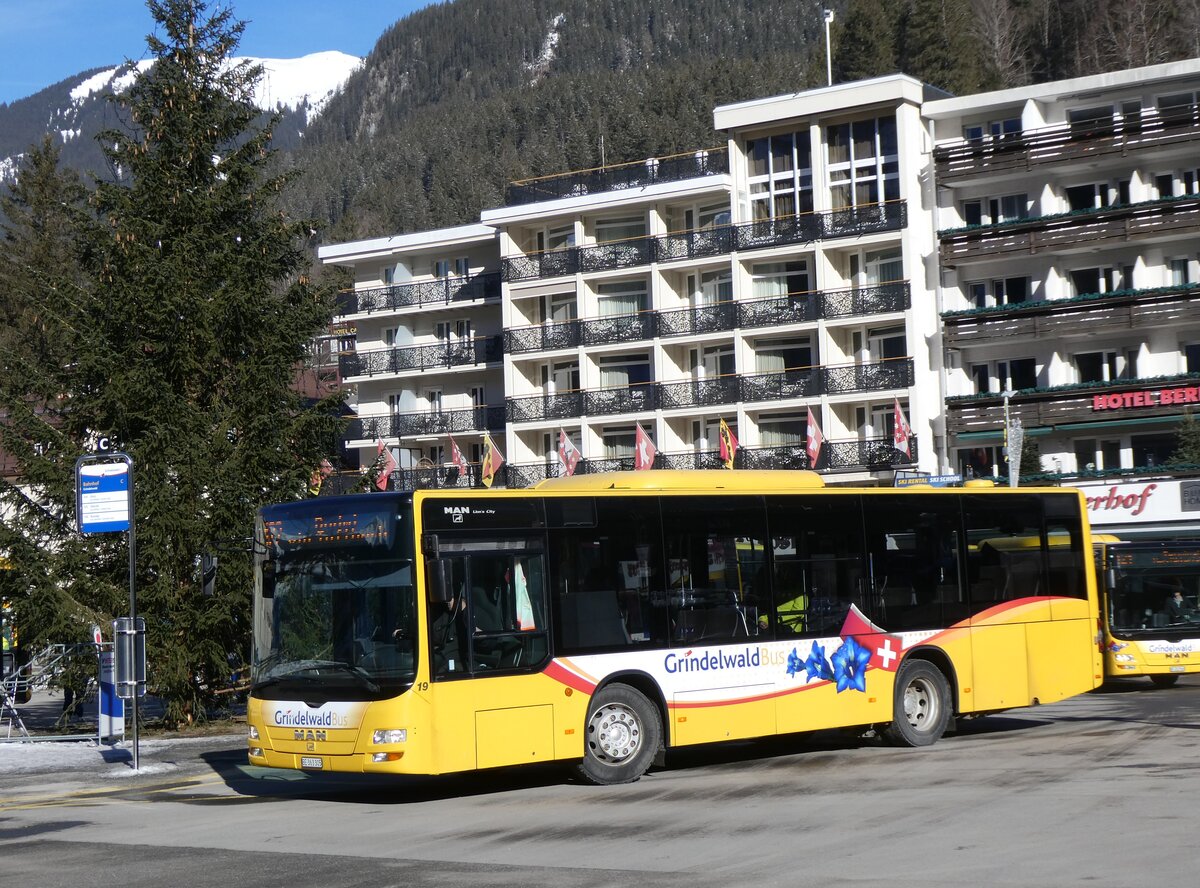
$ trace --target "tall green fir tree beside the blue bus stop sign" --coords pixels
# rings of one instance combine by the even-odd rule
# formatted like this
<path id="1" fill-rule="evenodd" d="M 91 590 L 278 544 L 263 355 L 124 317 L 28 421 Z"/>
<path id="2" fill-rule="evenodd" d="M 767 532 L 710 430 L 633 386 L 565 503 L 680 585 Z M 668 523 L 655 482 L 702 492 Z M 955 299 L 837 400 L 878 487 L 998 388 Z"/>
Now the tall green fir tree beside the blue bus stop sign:
<path id="1" fill-rule="evenodd" d="M 119 178 L 92 194 L 74 354 L 49 360 L 65 404 L 60 482 L 96 434 L 133 457 L 150 679 L 180 722 L 248 653 L 253 510 L 304 496 L 336 440 L 335 406 L 292 388 L 332 294 L 305 276 L 310 226 L 276 205 L 284 181 L 251 103 L 262 72 L 230 64 L 244 25 L 202 0 L 148 5 L 155 64 L 115 100 L 126 126 L 100 137 Z M 214 547 L 224 551 L 204 596 L 198 557 Z M 121 584 L 119 560 L 98 562 L 101 587 Z M 95 602 L 109 608 L 121 612 L 112 595 Z"/>

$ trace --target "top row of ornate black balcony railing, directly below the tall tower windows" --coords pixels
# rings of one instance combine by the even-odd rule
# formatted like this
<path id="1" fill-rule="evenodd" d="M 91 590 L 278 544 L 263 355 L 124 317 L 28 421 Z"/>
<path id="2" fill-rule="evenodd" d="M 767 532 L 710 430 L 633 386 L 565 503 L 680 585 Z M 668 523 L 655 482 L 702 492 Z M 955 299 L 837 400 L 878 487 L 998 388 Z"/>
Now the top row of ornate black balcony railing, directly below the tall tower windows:
<path id="1" fill-rule="evenodd" d="M 655 262 L 696 259 L 787 244 L 811 244 L 828 238 L 893 232 L 904 228 L 907 221 L 907 206 L 900 200 L 848 206 L 842 210 L 766 218 L 680 234 L 632 238 L 595 246 L 510 256 L 503 260 L 500 275 L 509 282 L 534 281 L 581 271 L 632 268 Z"/>

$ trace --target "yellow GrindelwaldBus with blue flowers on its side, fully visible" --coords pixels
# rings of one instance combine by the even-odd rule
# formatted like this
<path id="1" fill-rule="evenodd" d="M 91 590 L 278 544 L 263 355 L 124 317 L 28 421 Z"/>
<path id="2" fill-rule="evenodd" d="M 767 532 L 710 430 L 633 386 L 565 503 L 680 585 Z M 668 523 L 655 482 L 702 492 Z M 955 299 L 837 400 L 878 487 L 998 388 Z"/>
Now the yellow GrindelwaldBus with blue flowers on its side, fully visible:
<path id="1" fill-rule="evenodd" d="M 1082 494 L 972 485 L 648 470 L 266 506 L 250 762 L 617 784 L 678 746 L 851 726 L 924 746 L 1091 690 Z"/>

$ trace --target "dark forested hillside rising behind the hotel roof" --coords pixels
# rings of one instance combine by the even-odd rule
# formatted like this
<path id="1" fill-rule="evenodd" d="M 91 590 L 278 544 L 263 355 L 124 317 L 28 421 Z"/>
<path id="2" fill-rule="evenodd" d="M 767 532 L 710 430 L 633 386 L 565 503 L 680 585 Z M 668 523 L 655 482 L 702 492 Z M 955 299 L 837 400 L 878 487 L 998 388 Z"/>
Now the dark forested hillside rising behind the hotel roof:
<path id="1" fill-rule="evenodd" d="M 1200 0 L 835 0 L 835 80 L 956 95 L 1200 54 Z M 514 179 L 720 144 L 715 104 L 824 83 L 822 4 L 455 0 L 385 32 L 290 154 L 326 236 L 478 221 Z"/>

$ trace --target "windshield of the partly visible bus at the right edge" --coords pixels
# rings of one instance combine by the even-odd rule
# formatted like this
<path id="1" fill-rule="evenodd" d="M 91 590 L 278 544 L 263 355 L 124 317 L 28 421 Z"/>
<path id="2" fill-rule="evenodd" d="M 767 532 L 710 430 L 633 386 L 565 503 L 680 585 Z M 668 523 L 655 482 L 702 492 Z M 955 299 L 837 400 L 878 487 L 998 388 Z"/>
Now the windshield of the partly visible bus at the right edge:
<path id="1" fill-rule="evenodd" d="M 1163 635 L 1200 623 L 1200 545 L 1116 544 L 1109 547 L 1110 631 Z"/>

